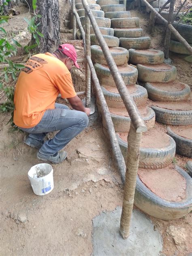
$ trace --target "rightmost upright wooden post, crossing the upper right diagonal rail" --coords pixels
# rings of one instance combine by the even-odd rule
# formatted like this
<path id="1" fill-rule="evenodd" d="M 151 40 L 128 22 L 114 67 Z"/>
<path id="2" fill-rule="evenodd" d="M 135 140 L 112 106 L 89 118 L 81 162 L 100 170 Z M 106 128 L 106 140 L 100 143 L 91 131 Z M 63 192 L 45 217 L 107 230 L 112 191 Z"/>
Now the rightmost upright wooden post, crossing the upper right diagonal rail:
<path id="1" fill-rule="evenodd" d="M 166 28 L 166 34 L 165 34 L 165 50 L 164 50 L 164 55 L 166 59 L 169 58 L 169 46 L 170 46 L 170 39 L 171 39 L 171 30 L 169 29 L 169 24 L 171 24 L 173 20 L 174 3 L 175 3 L 175 0 L 171 0 L 170 6 L 169 6 L 169 17 L 168 17 L 168 25 Z"/>

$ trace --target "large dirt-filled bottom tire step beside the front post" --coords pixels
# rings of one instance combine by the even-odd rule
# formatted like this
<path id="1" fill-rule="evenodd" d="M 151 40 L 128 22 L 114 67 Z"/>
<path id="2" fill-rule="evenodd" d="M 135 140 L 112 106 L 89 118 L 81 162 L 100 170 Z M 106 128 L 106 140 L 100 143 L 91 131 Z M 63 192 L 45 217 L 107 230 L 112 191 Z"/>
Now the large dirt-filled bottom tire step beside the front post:
<path id="1" fill-rule="evenodd" d="M 180 219 L 192 210 L 192 179 L 173 164 L 158 170 L 138 169 L 134 205 L 161 220 Z"/>

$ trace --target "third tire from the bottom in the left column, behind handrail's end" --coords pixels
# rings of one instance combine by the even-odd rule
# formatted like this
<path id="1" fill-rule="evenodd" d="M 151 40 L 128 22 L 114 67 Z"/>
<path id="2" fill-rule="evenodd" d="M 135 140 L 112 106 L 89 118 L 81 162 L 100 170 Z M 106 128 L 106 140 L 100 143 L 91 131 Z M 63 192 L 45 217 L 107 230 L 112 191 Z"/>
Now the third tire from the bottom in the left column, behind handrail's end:
<path id="1" fill-rule="evenodd" d="M 97 100 L 98 112 L 100 111 L 100 102 Z M 150 130 L 154 127 L 155 124 L 155 112 L 149 107 L 139 107 L 139 113 L 143 117 L 147 130 Z M 131 119 L 126 108 L 109 108 L 113 125 L 116 132 L 129 132 Z M 107 129 L 105 119 L 102 119 L 102 124 Z"/>

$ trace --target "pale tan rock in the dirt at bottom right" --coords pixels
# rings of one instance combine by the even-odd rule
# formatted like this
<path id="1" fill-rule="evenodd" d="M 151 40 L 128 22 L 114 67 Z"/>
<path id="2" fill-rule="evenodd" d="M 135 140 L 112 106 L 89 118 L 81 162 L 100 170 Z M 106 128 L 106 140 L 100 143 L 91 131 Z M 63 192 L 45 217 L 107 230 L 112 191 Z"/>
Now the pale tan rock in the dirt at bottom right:
<path id="1" fill-rule="evenodd" d="M 166 232 L 173 237 L 176 245 L 183 245 L 187 239 L 187 234 L 185 228 L 169 226 Z"/>

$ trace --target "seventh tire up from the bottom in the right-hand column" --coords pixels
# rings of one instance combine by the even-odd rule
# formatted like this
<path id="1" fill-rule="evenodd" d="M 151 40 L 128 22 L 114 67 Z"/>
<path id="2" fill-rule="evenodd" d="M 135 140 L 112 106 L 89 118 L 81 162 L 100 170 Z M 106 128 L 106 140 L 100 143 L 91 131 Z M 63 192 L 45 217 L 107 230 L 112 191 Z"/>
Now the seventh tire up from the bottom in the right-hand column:
<path id="1" fill-rule="evenodd" d="M 114 35 L 120 37 L 141 37 L 143 35 L 142 28 L 114 28 Z"/>

